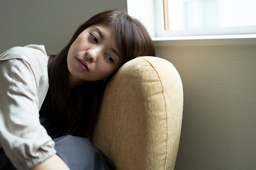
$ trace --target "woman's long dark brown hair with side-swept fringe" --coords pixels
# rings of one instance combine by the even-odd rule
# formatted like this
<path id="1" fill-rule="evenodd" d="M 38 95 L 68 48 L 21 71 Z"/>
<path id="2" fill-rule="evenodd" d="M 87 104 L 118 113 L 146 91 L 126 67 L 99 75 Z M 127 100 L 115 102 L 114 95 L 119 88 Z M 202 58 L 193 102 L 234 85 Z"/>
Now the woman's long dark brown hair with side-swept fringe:
<path id="1" fill-rule="evenodd" d="M 155 47 L 147 29 L 125 11 L 100 12 L 87 20 L 74 33 L 68 45 L 48 62 L 50 113 L 60 122 L 63 135 L 91 137 L 108 81 L 88 81 L 68 89 L 67 54 L 71 44 L 86 28 L 106 24 L 119 45 L 120 66 L 138 56 L 155 56 Z"/>

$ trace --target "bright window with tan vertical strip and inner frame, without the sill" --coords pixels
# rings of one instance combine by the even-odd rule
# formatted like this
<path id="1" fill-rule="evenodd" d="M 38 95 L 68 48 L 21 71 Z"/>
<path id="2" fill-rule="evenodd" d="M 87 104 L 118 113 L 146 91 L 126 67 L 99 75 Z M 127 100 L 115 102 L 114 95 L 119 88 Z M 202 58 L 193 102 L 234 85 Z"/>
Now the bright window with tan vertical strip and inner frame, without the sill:
<path id="1" fill-rule="evenodd" d="M 255 34 L 255 0 L 156 0 L 156 36 Z"/>

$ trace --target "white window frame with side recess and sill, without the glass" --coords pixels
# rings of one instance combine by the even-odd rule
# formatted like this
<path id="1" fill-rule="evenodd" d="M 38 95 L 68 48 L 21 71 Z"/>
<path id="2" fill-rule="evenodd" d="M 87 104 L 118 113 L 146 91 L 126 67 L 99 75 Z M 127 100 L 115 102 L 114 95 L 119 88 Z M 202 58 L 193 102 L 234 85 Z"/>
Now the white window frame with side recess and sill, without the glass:
<path id="1" fill-rule="evenodd" d="M 164 31 L 163 0 L 127 0 L 127 9 L 146 26 L 156 46 L 256 45 L 256 26 Z"/>

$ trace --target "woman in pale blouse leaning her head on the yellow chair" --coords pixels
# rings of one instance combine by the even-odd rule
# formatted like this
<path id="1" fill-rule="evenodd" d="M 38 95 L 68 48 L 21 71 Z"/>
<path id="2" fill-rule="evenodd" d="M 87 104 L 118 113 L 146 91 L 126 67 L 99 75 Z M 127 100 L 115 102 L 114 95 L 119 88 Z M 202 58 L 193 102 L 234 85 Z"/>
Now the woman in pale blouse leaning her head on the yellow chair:
<path id="1" fill-rule="evenodd" d="M 14 47 L 0 55 L 0 141 L 13 166 L 83 169 L 91 162 L 80 162 L 93 158 L 94 165 L 111 168 L 88 138 L 108 80 L 124 63 L 145 55 L 155 55 L 146 28 L 120 10 L 94 15 L 58 55 L 47 56 L 44 46 L 38 45 Z M 68 150 L 67 144 L 74 141 Z M 88 148 L 94 156 L 102 154 L 103 161 L 98 161 L 102 155 L 92 157 Z M 66 159 L 83 149 L 79 160 Z M 7 160 L 2 167 L 9 167 L 9 159 L 2 155 L 0 169 L 1 157 Z"/>

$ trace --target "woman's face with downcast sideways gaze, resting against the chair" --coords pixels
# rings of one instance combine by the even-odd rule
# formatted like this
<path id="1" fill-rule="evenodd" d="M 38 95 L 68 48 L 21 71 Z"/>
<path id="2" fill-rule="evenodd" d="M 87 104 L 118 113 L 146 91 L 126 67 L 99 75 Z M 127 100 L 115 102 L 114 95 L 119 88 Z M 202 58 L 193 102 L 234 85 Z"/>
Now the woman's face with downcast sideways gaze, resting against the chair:
<path id="1" fill-rule="evenodd" d="M 89 26 L 78 35 L 68 50 L 69 87 L 107 78 L 120 67 L 113 35 L 104 24 Z"/>

